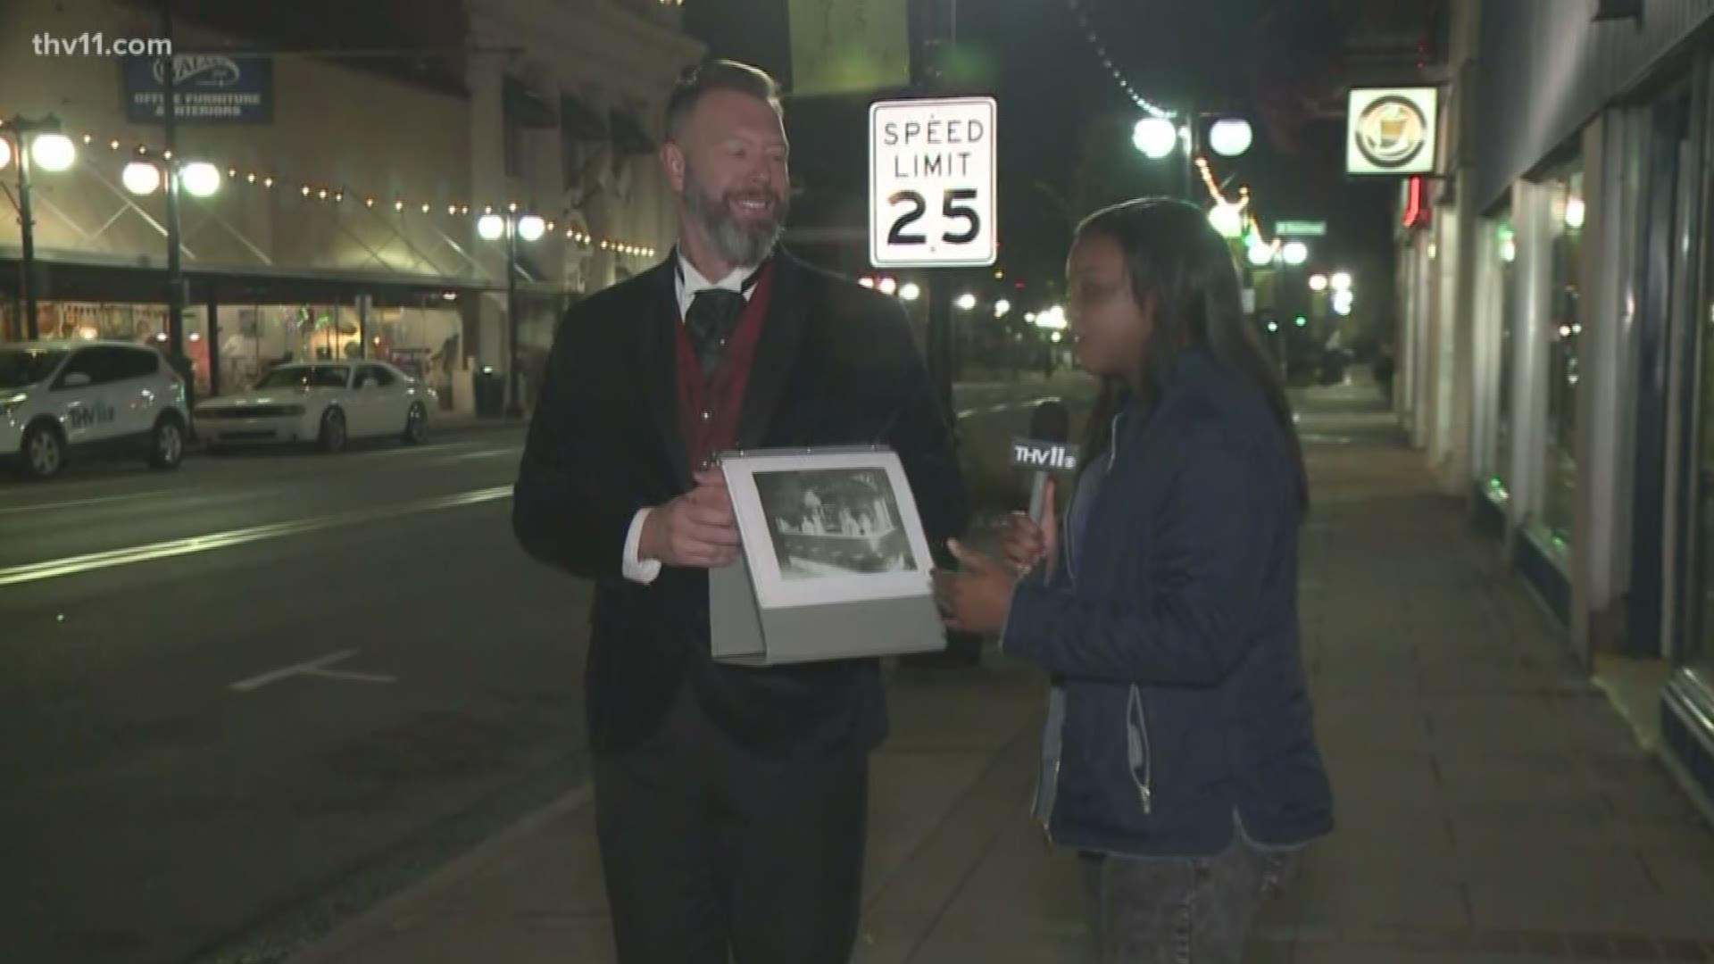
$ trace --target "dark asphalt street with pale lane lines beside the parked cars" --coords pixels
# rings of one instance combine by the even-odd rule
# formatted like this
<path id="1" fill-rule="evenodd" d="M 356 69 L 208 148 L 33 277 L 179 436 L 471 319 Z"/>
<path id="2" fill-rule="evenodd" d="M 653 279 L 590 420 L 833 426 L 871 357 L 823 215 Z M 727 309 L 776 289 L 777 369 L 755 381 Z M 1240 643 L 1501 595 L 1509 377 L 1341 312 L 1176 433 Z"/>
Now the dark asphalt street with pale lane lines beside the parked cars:
<path id="1" fill-rule="evenodd" d="M 956 401 L 1001 449 L 1044 391 Z M 278 959 L 579 782 L 590 590 L 512 540 L 521 448 L 0 482 L 0 853 L 27 868 L 0 959 Z"/>

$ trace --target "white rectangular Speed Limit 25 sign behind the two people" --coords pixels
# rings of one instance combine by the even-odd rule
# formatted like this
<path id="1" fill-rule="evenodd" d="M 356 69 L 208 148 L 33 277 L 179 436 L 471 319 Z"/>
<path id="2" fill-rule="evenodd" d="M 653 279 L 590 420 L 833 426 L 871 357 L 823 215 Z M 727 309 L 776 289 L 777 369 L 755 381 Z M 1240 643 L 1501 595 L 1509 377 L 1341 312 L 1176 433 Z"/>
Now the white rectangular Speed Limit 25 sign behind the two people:
<path id="1" fill-rule="evenodd" d="M 869 106 L 869 261 L 986 268 L 994 232 L 994 98 Z"/>

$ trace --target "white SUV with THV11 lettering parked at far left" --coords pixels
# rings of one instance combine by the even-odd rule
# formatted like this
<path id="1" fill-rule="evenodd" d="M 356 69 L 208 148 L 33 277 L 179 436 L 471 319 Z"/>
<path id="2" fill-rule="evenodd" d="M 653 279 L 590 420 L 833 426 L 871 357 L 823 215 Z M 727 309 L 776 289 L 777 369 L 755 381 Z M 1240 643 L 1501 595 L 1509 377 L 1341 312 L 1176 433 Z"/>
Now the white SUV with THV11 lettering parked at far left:
<path id="1" fill-rule="evenodd" d="M 178 468 L 190 412 L 159 352 L 129 341 L 0 343 L 0 458 L 51 479 L 70 453 Z"/>

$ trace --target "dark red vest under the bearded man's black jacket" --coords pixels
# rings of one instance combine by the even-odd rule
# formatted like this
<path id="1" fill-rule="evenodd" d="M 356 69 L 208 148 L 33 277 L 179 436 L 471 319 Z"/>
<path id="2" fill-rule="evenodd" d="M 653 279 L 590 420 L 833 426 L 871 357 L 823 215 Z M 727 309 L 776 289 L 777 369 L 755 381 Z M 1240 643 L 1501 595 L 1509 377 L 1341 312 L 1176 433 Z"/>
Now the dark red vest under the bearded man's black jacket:
<path id="1" fill-rule="evenodd" d="M 771 290 L 773 262 L 756 280 L 756 288 L 744 305 L 737 329 L 727 340 L 723 360 L 715 369 L 713 379 L 703 376 L 703 365 L 691 346 L 691 334 L 684 319 L 679 319 L 679 422 L 692 470 L 737 443 L 744 389 L 749 384 L 751 362 L 756 358 L 756 343 L 761 341 Z"/>

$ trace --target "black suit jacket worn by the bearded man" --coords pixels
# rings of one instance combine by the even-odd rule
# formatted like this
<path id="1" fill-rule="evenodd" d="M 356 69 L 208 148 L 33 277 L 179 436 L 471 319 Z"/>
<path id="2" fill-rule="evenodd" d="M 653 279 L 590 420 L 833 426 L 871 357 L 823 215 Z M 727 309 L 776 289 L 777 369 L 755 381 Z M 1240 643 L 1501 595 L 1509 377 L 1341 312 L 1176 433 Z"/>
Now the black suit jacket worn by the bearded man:
<path id="1" fill-rule="evenodd" d="M 674 256 L 675 257 L 675 256 Z M 595 751 L 655 731 L 686 679 L 768 755 L 869 750 L 886 736 L 878 660 L 735 667 L 710 659 L 708 573 L 620 573 L 631 520 L 692 487 L 679 422 L 674 268 L 572 307 L 554 340 L 512 503 L 536 559 L 595 580 L 586 714 Z M 776 252 L 737 448 L 888 444 L 931 544 L 968 521 L 951 422 L 898 304 Z"/>

